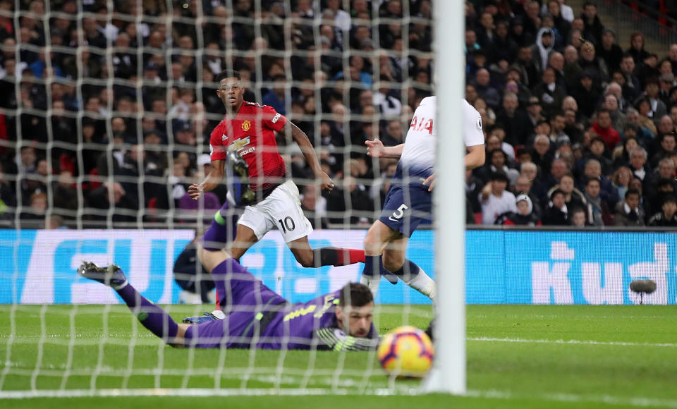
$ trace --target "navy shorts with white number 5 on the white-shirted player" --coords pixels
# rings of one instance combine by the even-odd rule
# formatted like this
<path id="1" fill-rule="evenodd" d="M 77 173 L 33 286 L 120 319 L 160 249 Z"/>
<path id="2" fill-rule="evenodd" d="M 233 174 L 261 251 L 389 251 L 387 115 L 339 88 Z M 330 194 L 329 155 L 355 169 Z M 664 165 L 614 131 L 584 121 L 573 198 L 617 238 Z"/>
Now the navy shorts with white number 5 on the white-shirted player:
<path id="1" fill-rule="evenodd" d="M 426 185 L 393 184 L 388 190 L 379 221 L 410 237 L 421 222 L 431 220 L 432 193 Z"/>

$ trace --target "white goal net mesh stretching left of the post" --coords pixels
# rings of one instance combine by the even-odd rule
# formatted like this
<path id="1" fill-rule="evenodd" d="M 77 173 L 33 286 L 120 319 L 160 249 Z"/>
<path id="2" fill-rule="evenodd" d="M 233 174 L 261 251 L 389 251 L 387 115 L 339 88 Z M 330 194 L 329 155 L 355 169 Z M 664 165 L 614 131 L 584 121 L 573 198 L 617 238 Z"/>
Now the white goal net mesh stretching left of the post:
<path id="1" fill-rule="evenodd" d="M 188 185 L 209 173 L 209 135 L 226 112 L 214 78 L 224 69 L 240 71 L 247 101 L 274 106 L 308 135 L 336 183 L 321 193 L 298 145 L 278 135 L 316 229 L 312 247 L 362 248 L 396 164 L 368 157 L 364 142 L 400 143 L 431 93 L 431 31 L 427 0 L 0 1 L 0 396 L 415 386 L 384 377 L 374 352 L 168 348 L 75 269 L 85 257 L 120 264 L 177 320 L 211 309 L 177 305 L 212 293 L 199 263 L 183 277 L 175 262 L 226 201 L 224 186 L 187 200 Z M 222 216 L 232 224 L 239 212 Z M 409 250 L 429 272 L 431 233 Z M 291 302 L 362 269 L 303 269 L 276 232 L 241 261 Z M 188 291 L 173 283 L 196 275 Z M 379 331 L 427 325 L 431 308 L 416 305 L 427 298 L 384 286 Z"/>

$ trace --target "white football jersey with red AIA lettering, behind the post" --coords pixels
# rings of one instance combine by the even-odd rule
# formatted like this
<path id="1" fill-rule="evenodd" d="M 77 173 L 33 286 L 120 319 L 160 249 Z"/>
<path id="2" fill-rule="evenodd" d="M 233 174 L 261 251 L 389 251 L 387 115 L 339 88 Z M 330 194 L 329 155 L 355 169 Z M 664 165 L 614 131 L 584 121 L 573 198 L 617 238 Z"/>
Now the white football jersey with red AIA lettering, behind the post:
<path id="1" fill-rule="evenodd" d="M 408 169 L 410 176 L 427 178 L 434 170 L 435 164 L 435 109 L 436 97 L 426 97 L 414 111 L 404 149 L 400 157 L 400 166 Z M 463 99 L 463 142 L 465 146 L 482 145 L 482 117 L 477 109 Z M 399 169 L 398 169 L 399 170 Z"/>

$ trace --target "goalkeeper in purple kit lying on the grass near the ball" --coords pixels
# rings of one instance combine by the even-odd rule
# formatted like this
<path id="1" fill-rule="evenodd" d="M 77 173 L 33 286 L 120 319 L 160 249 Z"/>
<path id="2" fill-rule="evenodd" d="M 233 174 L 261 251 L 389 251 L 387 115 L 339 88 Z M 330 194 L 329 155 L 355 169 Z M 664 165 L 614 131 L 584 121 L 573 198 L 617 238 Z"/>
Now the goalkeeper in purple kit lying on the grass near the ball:
<path id="1" fill-rule="evenodd" d="M 378 345 L 372 324 L 374 302 L 367 286 L 341 290 L 291 305 L 225 251 L 202 260 L 211 271 L 226 317 L 202 324 L 177 324 L 161 307 L 138 293 L 115 266 L 84 262 L 81 276 L 111 286 L 143 326 L 176 347 L 369 350 Z"/>

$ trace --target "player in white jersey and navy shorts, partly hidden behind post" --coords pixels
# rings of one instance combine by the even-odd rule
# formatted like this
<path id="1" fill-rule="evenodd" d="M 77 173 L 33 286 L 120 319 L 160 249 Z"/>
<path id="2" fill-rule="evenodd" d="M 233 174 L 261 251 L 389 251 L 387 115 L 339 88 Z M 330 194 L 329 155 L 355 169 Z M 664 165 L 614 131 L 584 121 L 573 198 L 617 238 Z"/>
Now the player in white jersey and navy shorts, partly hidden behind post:
<path id="1" fill-rule="evenodd" d="M 382 265 L 415 290 L 433 301 L 435 299 L 435 282 L 414 262 L 405 259 L 411 233 L 421 221 L 431 219 L 437 135 L 435 110 L 435 97 L 421 101 L 401 145 L 384 147 L 378 139 L 365 142 L 367 153 L 372 157 L 400 158 L 381 216 L 374 221 L 365 238 L 365 269 L 361 281 L 374 294 L 379 288 Z M 465 169 L 475 169 L 484 164 L 482 117 L 465 99 L 463 113 L 463 141 L 468 150 Z M 386 279 L 397 281 L 389 276 Z"/>

